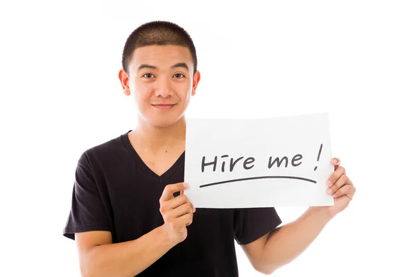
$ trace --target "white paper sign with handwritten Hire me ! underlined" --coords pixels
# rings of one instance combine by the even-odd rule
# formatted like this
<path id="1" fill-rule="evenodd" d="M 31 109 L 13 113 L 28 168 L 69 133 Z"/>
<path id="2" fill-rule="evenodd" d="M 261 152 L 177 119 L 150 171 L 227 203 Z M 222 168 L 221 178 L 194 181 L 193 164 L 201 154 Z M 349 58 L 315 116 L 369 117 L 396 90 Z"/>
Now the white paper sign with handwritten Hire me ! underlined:
<path id="1" fill-rule="evenodd" d="M 332 206 L 327 113 L 187 119 L 185 195 L 196 208 Z"/>

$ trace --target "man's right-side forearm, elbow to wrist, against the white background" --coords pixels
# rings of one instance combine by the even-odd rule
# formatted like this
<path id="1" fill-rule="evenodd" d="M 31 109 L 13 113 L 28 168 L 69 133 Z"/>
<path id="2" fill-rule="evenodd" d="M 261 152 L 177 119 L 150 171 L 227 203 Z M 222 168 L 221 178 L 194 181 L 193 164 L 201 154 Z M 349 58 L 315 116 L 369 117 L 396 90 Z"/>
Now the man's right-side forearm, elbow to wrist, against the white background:
<path id="1" fill-rule="evenodd" d="M 310 207 L 294 222 L 270 233 L 263 249 L 262 267 L 266 272 L 288 264 L 318 237 L 331 220 L 320 207 Z"/>

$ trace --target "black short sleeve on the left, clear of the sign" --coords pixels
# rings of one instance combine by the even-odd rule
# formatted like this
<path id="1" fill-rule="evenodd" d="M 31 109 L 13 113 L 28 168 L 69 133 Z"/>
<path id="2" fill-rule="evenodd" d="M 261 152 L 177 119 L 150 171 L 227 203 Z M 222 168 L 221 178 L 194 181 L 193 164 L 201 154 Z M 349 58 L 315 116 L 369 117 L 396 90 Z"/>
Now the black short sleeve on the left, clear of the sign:
<path id="1" fill-rule="evenodd" d="M 87 152 L 84 152 L 76 166 L 71 210 L 63 235 L 75 240 L 74 233 L 110 230 L 103 199 L 92 174 Z"/>

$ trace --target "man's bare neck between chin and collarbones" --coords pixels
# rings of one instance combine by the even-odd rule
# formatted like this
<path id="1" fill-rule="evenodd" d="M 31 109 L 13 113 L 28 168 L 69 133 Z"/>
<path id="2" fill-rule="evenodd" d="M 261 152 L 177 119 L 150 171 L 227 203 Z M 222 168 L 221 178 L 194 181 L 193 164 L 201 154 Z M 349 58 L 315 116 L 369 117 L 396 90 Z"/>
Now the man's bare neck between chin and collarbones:
<path id="1" fill-rule="evenodd" d="M 173 148 L 185 150 L 186 120 L 182 116 L 174 125 L 155 127 L 139 119 L 130 134 L 146 152 L 164 152 Z"/>

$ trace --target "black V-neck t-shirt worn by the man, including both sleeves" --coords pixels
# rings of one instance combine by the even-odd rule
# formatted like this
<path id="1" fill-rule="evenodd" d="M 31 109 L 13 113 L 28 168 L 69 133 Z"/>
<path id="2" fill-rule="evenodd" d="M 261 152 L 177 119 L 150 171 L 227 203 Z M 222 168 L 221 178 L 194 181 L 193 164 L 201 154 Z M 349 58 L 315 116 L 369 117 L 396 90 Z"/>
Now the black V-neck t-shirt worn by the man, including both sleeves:
<path id="1" fill-rule="evenodd" d="M 164 186 L 184 181 L 184 153 L 158 176 L 128 132 L 80 156 L 65 237 L 110 231 L 113 243 L 125 242 L 164 224 L 159 198 Z M 275 208 L 196 208 L 187 238 L 137 276 L 239 276 L 234 240 L 248 244 L 279 224 Z"/>

